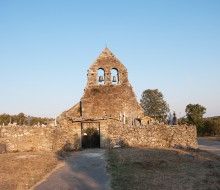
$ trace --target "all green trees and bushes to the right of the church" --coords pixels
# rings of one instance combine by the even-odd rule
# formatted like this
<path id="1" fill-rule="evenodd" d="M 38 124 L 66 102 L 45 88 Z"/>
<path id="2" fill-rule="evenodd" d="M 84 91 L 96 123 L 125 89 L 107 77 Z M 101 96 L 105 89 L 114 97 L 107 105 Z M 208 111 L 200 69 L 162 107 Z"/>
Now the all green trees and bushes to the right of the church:
<path id="1" fill-rule="evenodd" d="M 158 89 L 147 89 L 143 91 L 140 105 L 145 115 L 169 124 L 169 105 Z M 200 104 L 186 105 L 185 112 L 186 116 L 179 118 L 175 124 L 195 125 L 198 135 L 201 136 L 220 135 L 220 116 L 203 118 L 206 108 Z"/>

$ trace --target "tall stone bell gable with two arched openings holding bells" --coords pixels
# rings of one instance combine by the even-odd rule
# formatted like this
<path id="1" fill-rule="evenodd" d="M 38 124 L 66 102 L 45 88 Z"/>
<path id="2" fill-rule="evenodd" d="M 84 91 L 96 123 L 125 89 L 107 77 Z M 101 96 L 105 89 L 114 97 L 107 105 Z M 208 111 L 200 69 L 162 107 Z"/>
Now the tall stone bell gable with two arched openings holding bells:
<path id="1" fill-rule="evenodd" d="M 128 81 L 125 66 L 105 48 L 88 70 L 88 82 L 81 98 L 81 117 L 100 118 L 120 115 L 143 116 Z"/>

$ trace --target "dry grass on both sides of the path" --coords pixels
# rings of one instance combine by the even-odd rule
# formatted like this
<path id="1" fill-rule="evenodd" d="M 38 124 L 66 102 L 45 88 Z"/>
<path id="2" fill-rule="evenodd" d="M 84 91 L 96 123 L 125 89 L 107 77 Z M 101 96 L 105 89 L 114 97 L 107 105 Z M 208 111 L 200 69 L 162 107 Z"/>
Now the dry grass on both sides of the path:
<path id="1" fill-rule="evenodd" d="M 108 156 L 113 190 L 220 189 L 220 157 L 205 151 L 120 148 Z M 0 154 L 0 189 L 31 189 L 58 163 L 54 153 Z"/>

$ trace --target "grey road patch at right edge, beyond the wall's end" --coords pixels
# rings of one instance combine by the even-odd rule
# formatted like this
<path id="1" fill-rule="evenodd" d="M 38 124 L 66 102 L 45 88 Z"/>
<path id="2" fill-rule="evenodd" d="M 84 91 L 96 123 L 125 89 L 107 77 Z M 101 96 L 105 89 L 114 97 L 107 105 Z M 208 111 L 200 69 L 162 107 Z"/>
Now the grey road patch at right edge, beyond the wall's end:
<path id="1" fill-rule="evenodd" d="M 220 156 L 220 142 L 219 141 L 198 138 L 198 144 L 199 144 L 199 149 L 207 150 L 213 154 Z"/>

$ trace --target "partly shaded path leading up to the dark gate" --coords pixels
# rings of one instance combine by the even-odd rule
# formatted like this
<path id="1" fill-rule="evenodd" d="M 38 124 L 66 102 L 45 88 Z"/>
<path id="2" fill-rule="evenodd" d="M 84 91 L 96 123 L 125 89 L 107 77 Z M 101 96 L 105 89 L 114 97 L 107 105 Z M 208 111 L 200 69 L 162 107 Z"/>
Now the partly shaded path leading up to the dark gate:
<path id="1" fill-rule="evenodd" d="M 104 149 L 74 152 L 63 166 L 55 170 L 34 190 L 108 190 L 110 176 L 106 173 Z"/>

